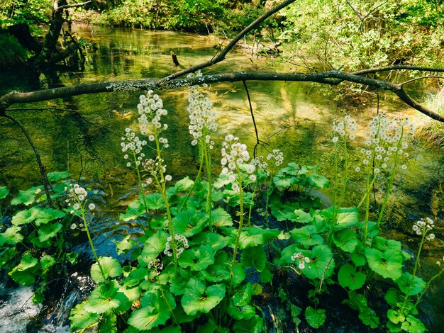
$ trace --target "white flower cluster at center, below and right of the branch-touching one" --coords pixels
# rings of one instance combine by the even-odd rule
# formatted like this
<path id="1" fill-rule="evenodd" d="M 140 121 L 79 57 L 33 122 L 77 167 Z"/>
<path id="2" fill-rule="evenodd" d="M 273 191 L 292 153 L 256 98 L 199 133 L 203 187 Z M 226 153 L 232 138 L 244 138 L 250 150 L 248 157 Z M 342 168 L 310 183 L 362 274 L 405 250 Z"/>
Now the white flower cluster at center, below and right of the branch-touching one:
<path id="1" fill-rule="evenodd" d="M 237 174 L 240 166 L 245 168 L 245 172 L 249 174 L 250 181 L 255 181 L 256 176 L 252 174 L 256 167 L 254 164 L 248 164 L 250 160 L 250 154 L 247 151 L 247 145 L 238 142 L 239 138 L 232 134 L 228 134 L 225 137 L 225 141 L 222 142 L 221 149 L 221 174 L 228 174 L 228 181 L 231 182 L 233 191 L 239 191 L 239 185 L 235 181 L 235 174 Z"/>

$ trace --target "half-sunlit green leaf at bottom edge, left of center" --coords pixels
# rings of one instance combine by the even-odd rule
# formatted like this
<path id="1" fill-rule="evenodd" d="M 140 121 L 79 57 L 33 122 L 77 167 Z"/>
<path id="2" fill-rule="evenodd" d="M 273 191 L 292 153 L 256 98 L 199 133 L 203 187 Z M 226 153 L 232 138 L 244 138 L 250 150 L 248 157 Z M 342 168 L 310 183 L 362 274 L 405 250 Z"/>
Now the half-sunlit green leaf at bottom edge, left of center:
<path id="1" fill-rule="evenodd" d="M 176 307 L 176 302 L 167 291 L 164 295 L 165 298 L 160 290 L 145 293 L 140 300 L 142 307 L 131 314 L 128 324 L 141 331 L 165 324 L 170 319 L 170 309 Z"/>

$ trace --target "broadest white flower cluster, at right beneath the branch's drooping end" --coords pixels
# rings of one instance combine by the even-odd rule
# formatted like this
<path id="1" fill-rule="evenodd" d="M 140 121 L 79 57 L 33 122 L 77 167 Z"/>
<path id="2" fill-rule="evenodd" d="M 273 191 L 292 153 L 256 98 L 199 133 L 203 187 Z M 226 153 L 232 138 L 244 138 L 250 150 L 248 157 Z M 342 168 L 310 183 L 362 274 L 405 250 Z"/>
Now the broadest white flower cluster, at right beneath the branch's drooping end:
<path id="1" fill-rule="evenodd" d="M 399 164 L 402 159 L 409 157 L 406 149 L 409 147 L 407 137 L 414 132 L 414 125 L 409 118 L 387 118 L 387 115 L 376 115 L 370 121 L 370 132 L 365 133 L 365 147 L 362 153 L 362 164 L 364 169 L 373 168 L 374 174 L 378 174 L 382 169 L 387 169 Z M 360 166 L 356 171 L 360 171 Z M 401 164 L 401 169 L 407 169 L 406 164 Z"/>

